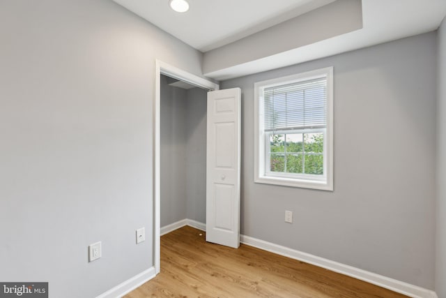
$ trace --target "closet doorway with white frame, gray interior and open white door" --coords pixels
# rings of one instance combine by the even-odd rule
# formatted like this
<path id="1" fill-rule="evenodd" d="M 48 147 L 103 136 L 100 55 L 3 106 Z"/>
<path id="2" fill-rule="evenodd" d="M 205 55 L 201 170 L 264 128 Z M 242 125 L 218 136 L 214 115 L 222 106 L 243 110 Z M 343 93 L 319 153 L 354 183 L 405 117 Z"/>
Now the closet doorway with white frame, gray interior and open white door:
<path id="1" fill-rule="evenodd" d="M 206 219 L 206 241 L 238 248 L 240 112 L 239 88 L 219 90 L 213 82 L 156 61 L 155 274 L 160 272 L 160 226 L 167 232 L 192 221 L 204 228 Z"/>

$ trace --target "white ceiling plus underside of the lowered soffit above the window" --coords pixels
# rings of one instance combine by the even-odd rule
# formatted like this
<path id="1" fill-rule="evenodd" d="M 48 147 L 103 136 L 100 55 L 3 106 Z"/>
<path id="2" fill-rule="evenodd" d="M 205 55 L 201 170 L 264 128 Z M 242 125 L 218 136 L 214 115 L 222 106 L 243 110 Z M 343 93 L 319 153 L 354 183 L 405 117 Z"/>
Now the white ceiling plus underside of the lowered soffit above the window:
<path id="1" fill-rule="evenodd" d="M 362 0 L 362 29 L 251 61 L 236 64 L 229 61 L 225 66 L 211 69 L 210 65 L 215 61 L 224 60 L 223 52 L 226 56 L 228 53 L 232 57 L 240 56 L 237 50 L 230 52 L 231 48 L 238 49 L 240 45 L 240 48 L 245 46 L 248 52 L 255 50 L 254 43 L 248 45 L 252 36 L 261 36 L 272 27 L 282 26 L 288 20 L 298 20 L 316 8 L 336 1 L 187 0 L 190 10 L 183 14 L 171 10 L 168 0 L 114 1 L 203 52 L 204 75 L 215 80 L 299 64 L 433 31 L 438 29 L 446 15 L 446 0 Z"/>

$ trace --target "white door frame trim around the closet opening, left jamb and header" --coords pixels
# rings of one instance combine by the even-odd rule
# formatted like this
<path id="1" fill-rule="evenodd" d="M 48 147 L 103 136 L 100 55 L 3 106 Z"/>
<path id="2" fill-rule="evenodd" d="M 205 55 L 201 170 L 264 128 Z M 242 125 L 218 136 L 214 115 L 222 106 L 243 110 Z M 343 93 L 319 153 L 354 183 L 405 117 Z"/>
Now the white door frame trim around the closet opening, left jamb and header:
<path id="1" fill-rule="evenodd" d="M 171 66 L 155 59 L 155 100 L 153 103 L 153 264 L 155 274 L 160 273 L 160 210 L 161 210 L 161 176 L 160 176 L 160 118 L 161 118 L 161 75 L 193 84 L 209 91 L 219 90 L 220 85 L 203 79 L 185 70 Z"/>

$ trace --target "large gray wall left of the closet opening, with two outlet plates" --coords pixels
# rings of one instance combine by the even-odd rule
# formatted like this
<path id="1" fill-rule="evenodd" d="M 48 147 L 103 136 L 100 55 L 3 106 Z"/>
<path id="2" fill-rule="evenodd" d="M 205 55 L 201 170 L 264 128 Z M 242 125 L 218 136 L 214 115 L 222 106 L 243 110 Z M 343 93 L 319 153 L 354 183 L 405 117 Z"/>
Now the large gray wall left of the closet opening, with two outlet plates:
<path id="1" fill-rule="evenodd" d="M 155 58 L 201 53 L 109 0 L 0 1 L 0 25 L 0 281 L 95 297 L 153 265 Z"/>

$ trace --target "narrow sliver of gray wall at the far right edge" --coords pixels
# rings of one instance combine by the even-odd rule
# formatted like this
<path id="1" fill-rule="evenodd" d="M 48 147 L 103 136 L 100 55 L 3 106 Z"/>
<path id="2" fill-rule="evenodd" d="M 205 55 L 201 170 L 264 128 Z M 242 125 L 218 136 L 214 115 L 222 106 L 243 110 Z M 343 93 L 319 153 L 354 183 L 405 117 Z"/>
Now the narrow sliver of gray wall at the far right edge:
<path id="1" fill-rule="evenodd" d="M 436 292 L 446 297 L 446 19 L 438 29 Z"/>

